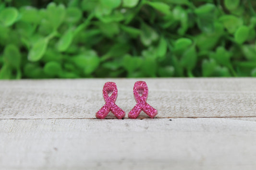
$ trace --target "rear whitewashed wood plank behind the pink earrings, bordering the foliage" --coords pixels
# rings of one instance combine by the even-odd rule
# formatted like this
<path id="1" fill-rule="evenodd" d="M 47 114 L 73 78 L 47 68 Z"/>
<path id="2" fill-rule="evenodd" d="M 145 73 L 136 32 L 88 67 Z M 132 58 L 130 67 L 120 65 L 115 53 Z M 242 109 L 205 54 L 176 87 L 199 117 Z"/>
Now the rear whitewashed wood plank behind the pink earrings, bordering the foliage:
<path id="1" fill-rule="evenodd" d="M 158 118 L 256 117 L 254 78 L 143 78 L 2 80 L 0 119 L 93 119 L 104 104 L 102 88 L 106 81 L 117 83 L 116 103 L 127 118 L 135 105 L 133 85 L 137 80 L 147 82 L 147 102 L 158 109 Z"/>

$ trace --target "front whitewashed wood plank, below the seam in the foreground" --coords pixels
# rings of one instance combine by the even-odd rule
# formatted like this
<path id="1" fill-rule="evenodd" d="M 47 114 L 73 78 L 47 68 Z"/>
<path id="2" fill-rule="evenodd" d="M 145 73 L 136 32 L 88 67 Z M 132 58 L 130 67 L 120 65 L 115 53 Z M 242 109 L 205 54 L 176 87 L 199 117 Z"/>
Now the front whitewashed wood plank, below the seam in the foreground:
<path id="1" fill-rule="evenodd" d="M 253 170 L 256 122 L 224 118 L 0 120 L 0 167 Z"/>

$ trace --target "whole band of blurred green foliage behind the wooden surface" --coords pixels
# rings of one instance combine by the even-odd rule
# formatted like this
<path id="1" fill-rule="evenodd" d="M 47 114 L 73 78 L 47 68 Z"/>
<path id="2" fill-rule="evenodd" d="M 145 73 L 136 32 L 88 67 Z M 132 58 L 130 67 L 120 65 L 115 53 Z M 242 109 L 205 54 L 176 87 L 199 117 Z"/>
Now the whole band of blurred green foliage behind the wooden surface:
<path id="1" fill-rule="evenodd" d="M 0 79 L 256 77 L 256 0 L 0 0 Z"/>

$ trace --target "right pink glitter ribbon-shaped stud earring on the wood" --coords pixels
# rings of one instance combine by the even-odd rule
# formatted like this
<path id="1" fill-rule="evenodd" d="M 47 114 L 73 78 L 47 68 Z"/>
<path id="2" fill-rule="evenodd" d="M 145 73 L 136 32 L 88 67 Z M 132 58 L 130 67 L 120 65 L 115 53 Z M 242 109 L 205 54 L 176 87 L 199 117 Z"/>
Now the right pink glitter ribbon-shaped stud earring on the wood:
<path id="1" fill-rule="evenodd" d="M 129 118 L 136 119 L 141 111 L 145 112 L 149 117 L 154 118 L 158 111 L 150 106 L 146 100 L 148 88 L 145 81 L 137 81 L 134 84 L 134 99 L 137 104 L 128 114 Z"/>

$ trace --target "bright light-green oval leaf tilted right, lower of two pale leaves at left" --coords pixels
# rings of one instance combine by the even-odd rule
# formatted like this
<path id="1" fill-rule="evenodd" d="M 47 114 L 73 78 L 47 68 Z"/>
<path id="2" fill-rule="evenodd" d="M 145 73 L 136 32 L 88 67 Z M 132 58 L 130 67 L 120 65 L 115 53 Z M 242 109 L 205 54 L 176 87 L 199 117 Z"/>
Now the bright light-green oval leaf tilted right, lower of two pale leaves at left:
<path id="1" fill-rule="evenodd" d="M 38 61 L 40 60 L 43 55 L 45 54 L 45 51 L 47 49 L 48 45 L 48 39 L 43 38 L 37 41 L 31 48 L 31 50 L 28 53 L 28 60 L 29 61 Z"/>

